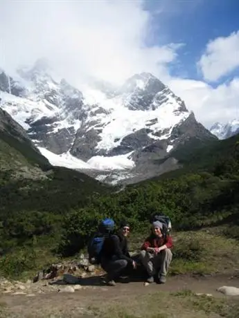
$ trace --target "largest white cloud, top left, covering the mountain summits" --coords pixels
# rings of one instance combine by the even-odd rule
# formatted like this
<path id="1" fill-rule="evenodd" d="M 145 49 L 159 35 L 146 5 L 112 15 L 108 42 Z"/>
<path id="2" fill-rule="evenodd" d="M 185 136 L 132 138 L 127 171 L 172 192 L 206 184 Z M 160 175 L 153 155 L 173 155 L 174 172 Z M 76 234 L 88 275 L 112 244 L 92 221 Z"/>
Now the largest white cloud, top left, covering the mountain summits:
<path id="1" fill-rule="evenodd" d="M 77 83 L 122 81 L 141 71 L 166 72 L 179 46 L 145 46 L 151 30 L 143 1 L 5 1 L 0 3 L 0 66 L 47 57 Z"/>

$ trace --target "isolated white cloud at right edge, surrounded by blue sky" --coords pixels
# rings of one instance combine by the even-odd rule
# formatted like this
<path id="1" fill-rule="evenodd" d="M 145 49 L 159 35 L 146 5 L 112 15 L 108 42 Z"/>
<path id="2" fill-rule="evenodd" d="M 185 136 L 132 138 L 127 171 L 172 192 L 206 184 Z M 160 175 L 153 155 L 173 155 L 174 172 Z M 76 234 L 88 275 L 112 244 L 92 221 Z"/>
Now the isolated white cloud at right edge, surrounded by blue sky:
<path id="1" fill-rule="evenodd" d="M 198 62 L 204 79 L 217 81 L 239 66 L 239 30 L 228 37 L 209 41 L 206 52 Z"/>

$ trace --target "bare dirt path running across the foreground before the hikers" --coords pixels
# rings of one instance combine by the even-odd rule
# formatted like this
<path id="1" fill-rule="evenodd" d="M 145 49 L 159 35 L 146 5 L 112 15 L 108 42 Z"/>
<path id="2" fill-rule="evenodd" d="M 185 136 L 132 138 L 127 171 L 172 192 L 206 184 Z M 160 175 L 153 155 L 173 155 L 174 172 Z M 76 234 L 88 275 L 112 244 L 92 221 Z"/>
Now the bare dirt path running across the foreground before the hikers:
<path id="1" fill-rule="evenodd" d="M 94 283 L 94 281 L 92 281 Z M 164 285 L 156 283 L 143 286 L 143 282 L 117 283 L 115 287 L 85 286 L 74 293 L 44 293 L 33 297 L 26 295 L 2 294 L 1 303 L 10 308 L 12 316 L 1 317 L 96 317 L 90 314 L 90 308 L 102 308 L 112 303 L 129 303 L 135 299 L 157 292 L 178 292 L 191 290 L 195 293 L 213 294 L 213 297 L 225 296 L 217 291 L 220 286 L 234 286 L 239 288 L 239 279 L 217 276 L 206 278 L 169 277 Z M 56 316 L 51 312 L 57 310 Z M 67 312 L 67 313 L 66 313 Z M 77 316 L 74 314 L 77 312 Z M 62 315 L 62 316 L 59 316 Z M 93 315 L 93 316 L 92 316 Z M 220 316 L 219 316 L 220 317 Z"/>

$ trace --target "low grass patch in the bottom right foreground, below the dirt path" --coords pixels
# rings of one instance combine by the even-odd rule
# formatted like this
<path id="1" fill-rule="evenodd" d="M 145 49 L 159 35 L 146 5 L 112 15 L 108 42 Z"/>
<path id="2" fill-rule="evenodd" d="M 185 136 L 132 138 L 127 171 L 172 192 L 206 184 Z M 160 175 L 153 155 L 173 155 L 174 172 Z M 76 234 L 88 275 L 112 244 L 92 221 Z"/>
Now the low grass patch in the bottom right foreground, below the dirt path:
<path id="1" fill-rule="evenodd" d="M 146 295 L 124 299 L 124 305 L 114 301 L 105 308 L 89 306 L 94 317 L 112 318 L 206 318 L 239 317 L 239 303 L 236 299 L 197 295 L 191 290 L 180 292 L 151 292 Z"/>

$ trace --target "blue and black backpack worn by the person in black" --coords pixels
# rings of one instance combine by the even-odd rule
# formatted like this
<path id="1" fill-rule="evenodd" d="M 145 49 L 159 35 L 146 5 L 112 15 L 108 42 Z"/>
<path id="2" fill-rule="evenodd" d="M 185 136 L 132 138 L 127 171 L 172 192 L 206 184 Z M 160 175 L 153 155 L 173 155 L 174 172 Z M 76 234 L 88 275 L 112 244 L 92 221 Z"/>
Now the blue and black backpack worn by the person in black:
<path id="1" fill-rule="evenodd" d="M 112 218 L 105 218 L 100 222 L 98 232 L 91 237 L 88 244 L 89 262 L 91 264 L 100 263 L 100 253 L 105 242 L 105 238 L 114 230 Z"/>

